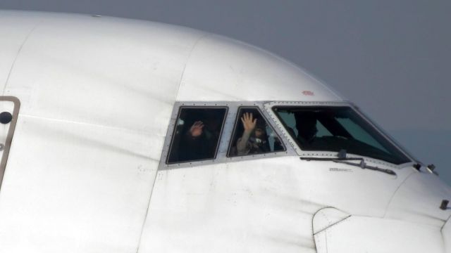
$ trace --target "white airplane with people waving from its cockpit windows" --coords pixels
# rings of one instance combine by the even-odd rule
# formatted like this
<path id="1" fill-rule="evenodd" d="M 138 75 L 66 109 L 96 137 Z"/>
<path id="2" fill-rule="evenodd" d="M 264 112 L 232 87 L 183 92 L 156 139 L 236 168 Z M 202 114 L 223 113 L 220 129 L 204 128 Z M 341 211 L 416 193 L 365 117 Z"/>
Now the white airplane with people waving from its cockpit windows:
<path id="1" fill-rule="evenodd" d="M 0 252 L 451 252 L 450 187 L 220 35 L 0 11 Z"/>

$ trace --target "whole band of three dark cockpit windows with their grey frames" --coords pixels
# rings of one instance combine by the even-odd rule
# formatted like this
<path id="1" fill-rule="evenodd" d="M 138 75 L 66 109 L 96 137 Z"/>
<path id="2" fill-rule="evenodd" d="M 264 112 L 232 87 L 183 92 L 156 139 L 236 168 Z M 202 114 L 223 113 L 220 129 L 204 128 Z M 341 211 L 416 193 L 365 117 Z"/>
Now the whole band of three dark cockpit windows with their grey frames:
<path id="1" fill-rule="evenodd" d="M 161 164 L 331 157 L 343 150 L 393 165 L 412 162 L 350 103 L 211 102 L 175 104 Z"/>

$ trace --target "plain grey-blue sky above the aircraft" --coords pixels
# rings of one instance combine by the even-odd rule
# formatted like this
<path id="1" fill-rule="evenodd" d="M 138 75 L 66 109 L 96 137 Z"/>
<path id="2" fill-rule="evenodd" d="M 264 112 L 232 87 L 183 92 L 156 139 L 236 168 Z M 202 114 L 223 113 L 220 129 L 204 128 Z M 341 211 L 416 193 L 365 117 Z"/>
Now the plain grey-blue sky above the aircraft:
<path id="1" fill-rule="evenodd" d="M 291 60 L 359 105 L 451 184 L 449 0 L 0 0 L 223 34 Z"/>

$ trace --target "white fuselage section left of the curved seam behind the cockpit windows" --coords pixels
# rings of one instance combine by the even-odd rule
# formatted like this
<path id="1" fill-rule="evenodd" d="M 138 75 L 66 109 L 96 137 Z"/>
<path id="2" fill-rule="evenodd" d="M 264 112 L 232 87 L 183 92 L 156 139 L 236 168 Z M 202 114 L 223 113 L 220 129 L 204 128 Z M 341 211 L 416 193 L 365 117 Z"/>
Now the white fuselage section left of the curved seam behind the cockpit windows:
<path id="1" fill-rule="evenodd" d="M 37 26 L 5 89 L 22 107 L 0 193 L 0 252 L 136 252 L 178 84 L 202 32 L 16 13 L 1 12 L 9 22 L 0 27 Z"/>

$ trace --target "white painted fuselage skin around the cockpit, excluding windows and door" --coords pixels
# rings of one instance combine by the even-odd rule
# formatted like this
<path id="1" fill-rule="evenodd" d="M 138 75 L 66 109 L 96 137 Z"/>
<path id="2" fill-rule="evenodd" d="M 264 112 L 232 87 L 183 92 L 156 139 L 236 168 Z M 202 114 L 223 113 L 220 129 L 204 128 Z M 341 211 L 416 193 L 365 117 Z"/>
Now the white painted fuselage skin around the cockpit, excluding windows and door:
<path id="1" fill-rule="evenodd" d="M 157 171 L 177 100 L 342 100 L 277 56 L 154 22 L 18 11 L 0 20 L 0 81 L 22 103 L 0 252 L 315 252 L 324 207 L 367 217 L 337 226 L 343 234 L 377 235 L 337 241 L 341 252 L 400 249 L 419 235 L 428 241 L 417 249 L 442 252 L 449 240 L 447 226 L 436 235 L 450 188 L 411 167 L 390 167 L 395 177 L 293 155 Z"/>

